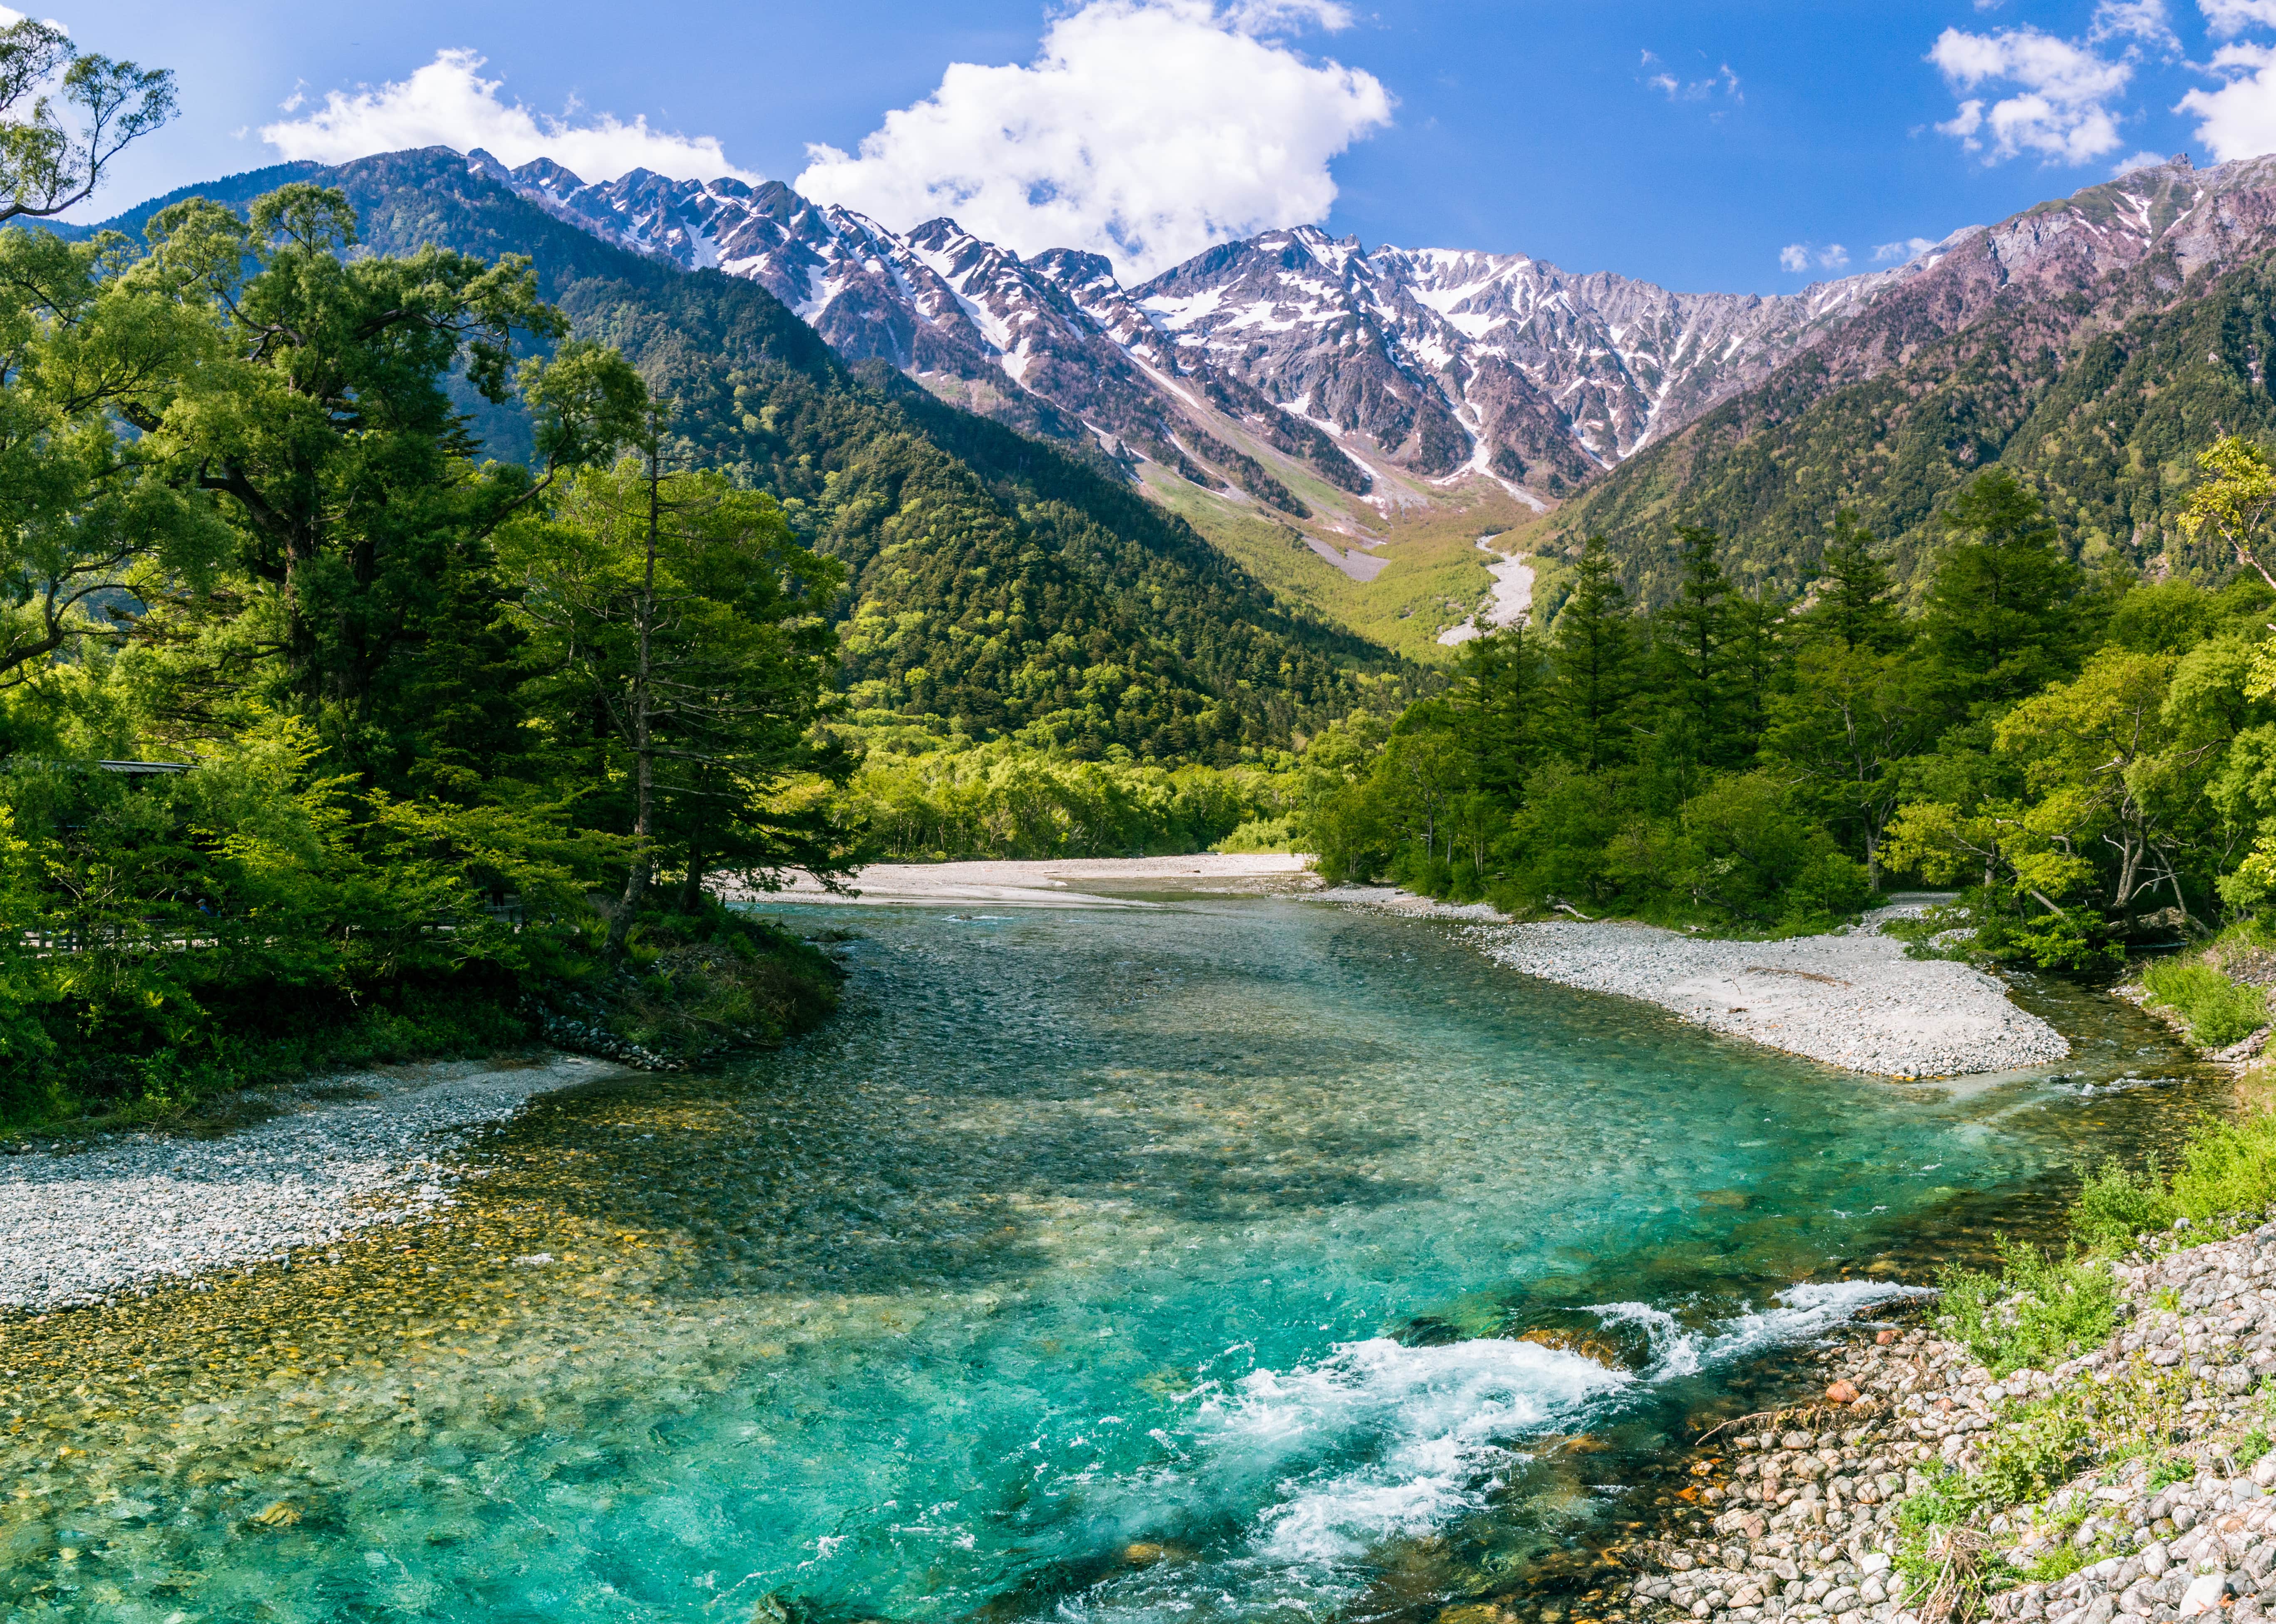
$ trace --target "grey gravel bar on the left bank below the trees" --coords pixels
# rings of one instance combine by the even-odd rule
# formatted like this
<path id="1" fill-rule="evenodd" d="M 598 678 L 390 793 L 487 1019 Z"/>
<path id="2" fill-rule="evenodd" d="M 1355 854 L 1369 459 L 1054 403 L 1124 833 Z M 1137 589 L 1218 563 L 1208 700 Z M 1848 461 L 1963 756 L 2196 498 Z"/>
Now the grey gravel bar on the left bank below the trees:
<path id="1" fill-rule="evenodd" d="M 615 1075 L 580 1055 L 355 1073 L 248 1096 L 280 1114 L 221 1139 L 107 1134 L 0 1157 L 0 1312 L 80 1307 L 423 1219 L 469 1171 L 467 1130 Z"/>

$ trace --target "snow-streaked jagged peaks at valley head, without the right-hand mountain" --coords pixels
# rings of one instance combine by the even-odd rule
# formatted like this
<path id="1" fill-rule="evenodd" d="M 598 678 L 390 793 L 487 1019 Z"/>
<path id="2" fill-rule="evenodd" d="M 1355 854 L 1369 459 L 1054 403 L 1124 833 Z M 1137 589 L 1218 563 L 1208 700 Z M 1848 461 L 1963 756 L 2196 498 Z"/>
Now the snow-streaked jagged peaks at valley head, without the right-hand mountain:
<path id="1" fill-rule="evenodd" d="M 947 219 L 892 232 L 781 182 L 633 171 L 585 184 L 480 150 L 469 166 L 619 246 L 760 282 L 849 360 L 1290 512 L 1300 503 L 1209 430 L 1209 410 L 1354 494 L 1388 465 L 1557 497 L 1935 262 L 1782 298 L 1671 294 L 1527 255 L 1366 251 L 1297 228 L 1127 289 L 1092 253 L 1022 260 Z"/>

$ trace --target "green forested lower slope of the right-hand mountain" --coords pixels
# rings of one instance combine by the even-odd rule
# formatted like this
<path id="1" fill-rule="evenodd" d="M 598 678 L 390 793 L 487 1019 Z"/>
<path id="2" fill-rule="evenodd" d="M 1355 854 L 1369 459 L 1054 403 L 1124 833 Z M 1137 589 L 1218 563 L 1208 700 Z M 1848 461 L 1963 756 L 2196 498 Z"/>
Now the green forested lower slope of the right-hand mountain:
<path id="1" fill-rule="evenodd" d="M 1866 383 L 1828 389 L 1825 358 L 1796 358 L 1559 510 L 1552 544 L 1577 551 L 1602 533 L 1630 588 L 1659 604 L 1677 579 L 1673 526 L 1700 524 L 1730 538 L 1734 574 L 1793 588 L 1825 524 L 1853 508 L 1919 592 L 1944 501 L 1998 462 L 2044 494 L 2080 563 L 2215 579 L 2233 560 L 2183 538 L 2176 515 L 2205 444 L 2276 430 L 2262 364 L 2276 264 L 2183 285 L 2155 257 L 2126 282 L 2098 303 L 2124 310 L 2155 294 L 2162 307 L 2114 321 L 2087 296 L 2019 287 Z M 2164 303 L 2176 287 L 2183 296 Z"/>

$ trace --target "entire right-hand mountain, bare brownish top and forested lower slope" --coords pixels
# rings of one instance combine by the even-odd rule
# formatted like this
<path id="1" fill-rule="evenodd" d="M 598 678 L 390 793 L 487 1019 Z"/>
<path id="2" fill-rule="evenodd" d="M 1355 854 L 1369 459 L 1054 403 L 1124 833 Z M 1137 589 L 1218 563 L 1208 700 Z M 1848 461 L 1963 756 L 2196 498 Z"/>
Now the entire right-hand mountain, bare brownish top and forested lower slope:
<path id="1" fill-rule="evenodd" d="M 2219 567 L 2174 515 L 2217 433 L 2276 428 L 2271 248 L 2269 157 L 2208 171 L 2176 157 L 1964 232 L 1757 387 L 1657 437 L 1555 528 L 1573 547 L 1607 535 L 1657 597 L 1675 519 L 1741 538 L 1753 574 L 1793 583 L 1848 506 L 1916 579 L 1944 499 L 2003 462 L 2089 565 Z"/>

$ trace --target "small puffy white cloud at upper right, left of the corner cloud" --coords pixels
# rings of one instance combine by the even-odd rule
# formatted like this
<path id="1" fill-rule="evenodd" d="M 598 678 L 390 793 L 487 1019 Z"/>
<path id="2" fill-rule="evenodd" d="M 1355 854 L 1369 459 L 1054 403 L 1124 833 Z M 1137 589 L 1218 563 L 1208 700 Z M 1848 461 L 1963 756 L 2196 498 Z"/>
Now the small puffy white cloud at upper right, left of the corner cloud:
<path id="1" fill-rule="evenodd" d="M 2037 153 L 2051 164 L 2085 164 L 2121 143 L 2110 102 L 2133 80 L 2130 57 L 2110 59 L 2023 25 L 1996 34 L 1948 27 L 1937 34 L 1928 59 L 1955 93 L 1982 87 L 2010 91 L 1998 98 L 1966 96 L 1937 125 L 1969 153 L 1985 153 L 1985 162 Z"/>

